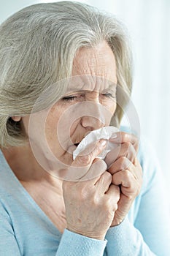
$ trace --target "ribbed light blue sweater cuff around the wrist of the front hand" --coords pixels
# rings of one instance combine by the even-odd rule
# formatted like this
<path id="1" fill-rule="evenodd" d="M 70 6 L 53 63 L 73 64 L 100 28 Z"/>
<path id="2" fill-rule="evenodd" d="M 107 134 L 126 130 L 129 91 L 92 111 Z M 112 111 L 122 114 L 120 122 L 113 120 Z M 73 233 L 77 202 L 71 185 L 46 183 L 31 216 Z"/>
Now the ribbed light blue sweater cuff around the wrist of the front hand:
<path id="1" fill-rule="evenodd" d="M 103 256 L 107 241 L 64 230 L 56 256 Z"/>

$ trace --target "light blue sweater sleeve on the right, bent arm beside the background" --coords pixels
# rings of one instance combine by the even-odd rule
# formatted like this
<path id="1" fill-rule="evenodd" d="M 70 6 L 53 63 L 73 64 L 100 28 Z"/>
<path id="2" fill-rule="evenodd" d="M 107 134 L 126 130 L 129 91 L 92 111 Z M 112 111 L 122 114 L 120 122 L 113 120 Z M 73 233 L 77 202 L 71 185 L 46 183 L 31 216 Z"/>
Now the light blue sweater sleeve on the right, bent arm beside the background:
<path id="1" fill-rule="evenodd" d="M 132 206 L 131 222 L 126 217 L 117 227 L 109 228 L 108 256 L 170 255 L 169 200 L 161 168 L 150 145 L 143 146 L 139 160 L 143 169 L 142 191 Z"/>

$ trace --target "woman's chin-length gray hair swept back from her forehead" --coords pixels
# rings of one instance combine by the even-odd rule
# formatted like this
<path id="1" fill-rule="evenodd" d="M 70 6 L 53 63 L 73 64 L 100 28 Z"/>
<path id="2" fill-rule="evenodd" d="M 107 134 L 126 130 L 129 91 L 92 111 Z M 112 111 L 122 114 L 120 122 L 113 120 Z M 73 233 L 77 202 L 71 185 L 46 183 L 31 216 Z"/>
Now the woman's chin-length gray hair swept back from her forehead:
<path id="1" fill-rule="evenodd" d="M 42 91 L 71 77 L 74 56 L 82 47 L 107 41 L 115 55 L 117 83 L 129 97 L 132 58 L 126 34 L 113 15 L 72 1 L 34 4 L 2 23 L 0 146 L 18 146 L 26 140 L 22 125 L 11 116 L 30 114 Z M 120 123 L 123 106 L 117 105 L 114 116 Z"/>

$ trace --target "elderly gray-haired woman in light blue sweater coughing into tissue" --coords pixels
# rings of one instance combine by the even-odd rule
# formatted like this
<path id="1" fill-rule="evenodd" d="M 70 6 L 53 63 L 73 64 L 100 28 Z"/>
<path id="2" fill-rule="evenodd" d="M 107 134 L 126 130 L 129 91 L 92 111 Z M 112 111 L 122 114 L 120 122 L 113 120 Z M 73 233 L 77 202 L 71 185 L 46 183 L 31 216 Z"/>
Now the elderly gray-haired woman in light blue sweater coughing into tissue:
<path id="1" fill-rule="evenodd" d="M 0 255 L 170 255 L 143 139 L 114 132 L 104 159 L 105 138 L 72 156 L 89 132 L 120 128 L 131 66 L 123 26 L 85 4 L 36 4 L 1 24 Z"/>

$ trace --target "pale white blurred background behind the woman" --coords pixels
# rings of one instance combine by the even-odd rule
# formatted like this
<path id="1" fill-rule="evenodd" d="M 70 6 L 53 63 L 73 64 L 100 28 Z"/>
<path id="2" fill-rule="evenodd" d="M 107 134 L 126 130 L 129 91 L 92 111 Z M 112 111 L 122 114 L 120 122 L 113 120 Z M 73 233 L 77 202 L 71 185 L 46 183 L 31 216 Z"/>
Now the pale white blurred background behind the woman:
<path id="1" fill-rule="evenodd" d="M 43 0 L 0 0 L 0 23 L 9 15 Z M 157 154 L 170 192 L 170 1 L 88 0 L 125 23 L 134 52 L 132 99 L 141 134 Z"/>

